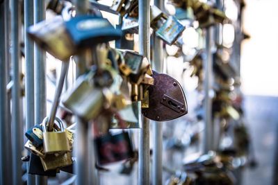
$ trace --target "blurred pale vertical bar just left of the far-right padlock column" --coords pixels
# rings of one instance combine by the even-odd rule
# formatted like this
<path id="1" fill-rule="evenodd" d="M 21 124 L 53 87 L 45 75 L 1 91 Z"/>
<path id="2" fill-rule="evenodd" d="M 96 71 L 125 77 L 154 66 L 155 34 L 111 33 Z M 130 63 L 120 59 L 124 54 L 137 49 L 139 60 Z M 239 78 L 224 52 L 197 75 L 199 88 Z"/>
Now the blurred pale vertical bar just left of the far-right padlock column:
<path id="1" fill-rule="evenodd" d="M 206 29 L 206 60 L 204 60 L 204 122 L 205 122 L 205 136 L 204 136 L 204 152 L 213 150 L 213 121 L 212 121 L 212 100 L 211 87 L 213 83 L 213 56 L 211 48 L 213 28 L 212 26 Z"/>

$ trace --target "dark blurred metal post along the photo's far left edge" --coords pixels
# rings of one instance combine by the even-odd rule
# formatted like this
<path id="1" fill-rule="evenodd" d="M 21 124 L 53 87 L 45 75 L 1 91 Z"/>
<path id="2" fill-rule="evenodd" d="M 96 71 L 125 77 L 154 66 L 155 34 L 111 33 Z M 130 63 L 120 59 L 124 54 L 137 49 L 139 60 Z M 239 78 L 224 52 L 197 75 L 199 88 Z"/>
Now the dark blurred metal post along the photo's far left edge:
<path id="1" fill-rule="evenodd" d="M 6 16 L 8 8 L 5 2 L 0 3 L 0 40 L 2 44 L 0 46 L 0 184 L 11 184 L 12 180 L 7 178 L 10 175 L 13 175 L 13 171 L 10 165 L 11 154 L 10 148 L 10 122 L 8 121 L 8 96 L 6 92 L 6 61 L 8 58 L 8 40 L 6 39 L 6 28 L 8 26 L 6 21 Z M 11 173 L 11 174 L 10 174 Z"/>

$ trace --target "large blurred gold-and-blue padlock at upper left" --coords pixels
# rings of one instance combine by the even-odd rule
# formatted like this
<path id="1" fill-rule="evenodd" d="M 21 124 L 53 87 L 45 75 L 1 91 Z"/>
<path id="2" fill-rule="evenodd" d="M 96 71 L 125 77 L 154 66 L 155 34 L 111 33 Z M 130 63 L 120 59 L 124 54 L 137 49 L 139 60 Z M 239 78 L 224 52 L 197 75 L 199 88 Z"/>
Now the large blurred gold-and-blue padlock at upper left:
<path id="1" fill-rule="evenodd" d="M 29 27 L 28 35 L 55 58 L 67 61 L 95 44 L 120 39 L 122 30 L 115 29 L 102 17 L 82 15 L 64 21 L 56 16 Z"/>

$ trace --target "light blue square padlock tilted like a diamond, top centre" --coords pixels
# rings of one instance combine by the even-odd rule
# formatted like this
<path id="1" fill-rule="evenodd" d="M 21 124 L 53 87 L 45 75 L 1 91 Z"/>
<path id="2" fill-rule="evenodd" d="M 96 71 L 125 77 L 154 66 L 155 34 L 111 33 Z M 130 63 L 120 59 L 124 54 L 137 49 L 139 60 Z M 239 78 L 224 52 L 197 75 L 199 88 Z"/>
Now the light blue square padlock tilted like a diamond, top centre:
<path id="1" fill-rule="evenodd" d="M 169 16 L 164 24 L 156 30 L 156 35 L 167 44 L 172 45 L 186 27 L 174 16 Z"/>

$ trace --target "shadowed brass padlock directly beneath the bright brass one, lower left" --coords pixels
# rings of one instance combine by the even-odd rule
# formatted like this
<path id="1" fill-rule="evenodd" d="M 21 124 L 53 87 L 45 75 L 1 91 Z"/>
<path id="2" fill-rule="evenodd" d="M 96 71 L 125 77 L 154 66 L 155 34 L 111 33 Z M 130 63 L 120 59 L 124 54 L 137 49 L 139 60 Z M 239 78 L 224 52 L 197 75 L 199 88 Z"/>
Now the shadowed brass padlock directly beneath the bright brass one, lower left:
<path id="1" fill-rule="evenodd" d="M 72 153 L 66 152 L 62 155 L 49 154 L 44 158 L 40 157 L 44 171 L 63 168 L 72 165 Z"/>

